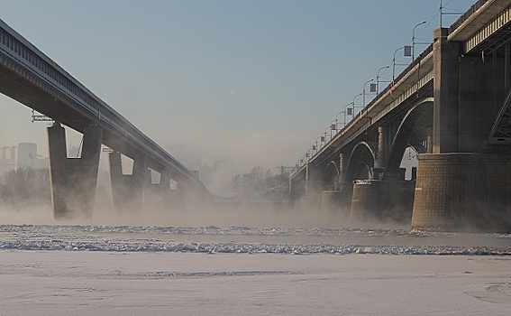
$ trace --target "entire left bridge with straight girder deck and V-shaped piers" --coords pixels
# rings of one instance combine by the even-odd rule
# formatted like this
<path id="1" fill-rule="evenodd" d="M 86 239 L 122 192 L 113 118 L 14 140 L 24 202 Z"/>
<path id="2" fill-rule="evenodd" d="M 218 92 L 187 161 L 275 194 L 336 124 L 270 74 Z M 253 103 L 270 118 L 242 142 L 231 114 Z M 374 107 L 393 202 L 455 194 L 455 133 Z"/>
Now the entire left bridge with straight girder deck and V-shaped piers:
<path id="1" fill-rule="evenodd" d="M 115 209 L 142 209 L 144 194 L 169 194 L 170 180 L 178 182 L 181 197 L 209 194 L 196 172 L 1 20 L 0 92 L 54 121 L 48 127 L 54 218 L 92 217 L 102 144 L 111 149 Z M 68 158 L 63 125 L 83 134 L 81 158 Z M 130 175 L 123 174 L 121 154 L 133 161 Z M 159 183 L 151 183 L 151 171 L 160 173 Z"/>

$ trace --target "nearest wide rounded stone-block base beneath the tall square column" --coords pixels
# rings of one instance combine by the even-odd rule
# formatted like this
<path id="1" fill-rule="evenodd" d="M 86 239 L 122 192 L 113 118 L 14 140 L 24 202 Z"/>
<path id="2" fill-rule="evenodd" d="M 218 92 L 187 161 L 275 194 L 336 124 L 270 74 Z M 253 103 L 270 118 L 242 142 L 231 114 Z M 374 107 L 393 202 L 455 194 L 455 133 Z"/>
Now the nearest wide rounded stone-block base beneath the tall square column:
<path id="1" fill-rule="evenodd" d="M 511 232 L 511 157 L 420 154 L 412 229 Z"/>

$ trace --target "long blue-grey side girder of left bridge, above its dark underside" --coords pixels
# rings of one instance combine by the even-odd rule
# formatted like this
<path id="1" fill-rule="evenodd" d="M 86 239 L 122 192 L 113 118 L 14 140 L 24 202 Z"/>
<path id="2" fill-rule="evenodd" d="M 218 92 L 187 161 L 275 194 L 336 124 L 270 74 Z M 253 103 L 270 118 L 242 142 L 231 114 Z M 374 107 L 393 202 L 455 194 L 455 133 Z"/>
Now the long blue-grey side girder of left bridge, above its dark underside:
<path id="1" fill-rule="evenodd" d="M 174 157 L 154 143 L 149 137 L 132 125 L 130 121 L 109 107 L 103 100 L 96 97 L 89 89 L 63 70 L 56 62 L 50 60 L 31 42 L 16 33 L 4 21 L 0 20 L 0 51 L 30 70 L 40 79 L 59 89 L 76 104 L 68 104 L 78 113 L 93 121 L 104 122 L 116 130 L 118 134 L 131 140 L 143 150 L 151 153 L 157 160 L 169 164 L 187 179 L 194 179 L 192 172 L 179 163 Z M 78 105 L 78 106 L 77 106 Z"/>

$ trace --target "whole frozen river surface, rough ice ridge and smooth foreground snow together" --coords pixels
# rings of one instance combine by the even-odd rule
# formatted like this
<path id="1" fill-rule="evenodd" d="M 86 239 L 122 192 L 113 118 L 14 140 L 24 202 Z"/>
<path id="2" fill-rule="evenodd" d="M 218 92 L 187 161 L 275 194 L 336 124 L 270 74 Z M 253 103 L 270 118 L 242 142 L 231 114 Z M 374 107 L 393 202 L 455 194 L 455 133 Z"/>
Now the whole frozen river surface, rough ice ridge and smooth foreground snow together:
<path id="1" fill-rule="evenodd" d="M 0 315 L 509 315 L 511 236 L 0 225 Z"/>

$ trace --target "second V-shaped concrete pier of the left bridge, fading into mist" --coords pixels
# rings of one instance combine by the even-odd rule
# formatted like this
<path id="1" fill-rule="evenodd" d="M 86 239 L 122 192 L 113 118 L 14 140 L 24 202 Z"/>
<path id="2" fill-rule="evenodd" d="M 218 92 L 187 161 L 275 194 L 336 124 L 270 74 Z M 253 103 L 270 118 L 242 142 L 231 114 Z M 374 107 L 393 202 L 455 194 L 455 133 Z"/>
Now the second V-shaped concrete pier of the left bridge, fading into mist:
<path id="1" fill-rule="evenodd" d="M 140 154 L 133 159 L 132 174 L 123 174 L 121 153 L 108 154 L 112 207 L 118 212 L 140 212 L 144 207 L 144 187 L 149 179 L 147 156 Z"/>

